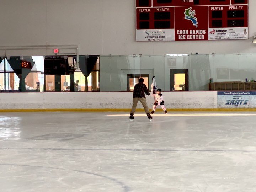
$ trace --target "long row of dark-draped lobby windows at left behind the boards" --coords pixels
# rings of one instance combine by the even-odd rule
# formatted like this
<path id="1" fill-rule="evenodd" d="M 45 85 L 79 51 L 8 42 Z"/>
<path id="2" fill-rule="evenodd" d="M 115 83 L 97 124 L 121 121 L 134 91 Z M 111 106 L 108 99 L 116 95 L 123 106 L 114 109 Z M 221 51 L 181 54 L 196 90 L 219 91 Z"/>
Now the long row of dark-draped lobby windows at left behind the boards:
<path id="1" fill-rule="evenodd" d="M 0 57 L 0 92 L 100 91 L 98 55 Z"/>

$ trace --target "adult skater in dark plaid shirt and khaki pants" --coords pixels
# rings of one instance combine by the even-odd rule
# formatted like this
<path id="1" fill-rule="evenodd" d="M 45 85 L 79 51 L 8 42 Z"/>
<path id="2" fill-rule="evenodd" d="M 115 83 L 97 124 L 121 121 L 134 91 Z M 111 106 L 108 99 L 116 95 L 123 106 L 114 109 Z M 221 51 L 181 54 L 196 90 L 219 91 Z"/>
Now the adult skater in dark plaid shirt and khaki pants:
<path id="1" fill-rule="evenodd" d="M 145 93 L 147 95 L 149 94 L 148 88 L 146 87 L 146 85 L 144 84 L 144 79 L 140 78 L 139 79 L 139 83 L 137 83 L 134 86 L 134 90 L 133 90 L 133 106 L 132 106 L 132 110 L 130 112 L 130 121 L 133 121 L 134 119 L 134 112 L 136 110 L 138 101 L 140 101 L 140 103 L 142 104 L 142 106 L 144 107 L 144 110 L 146 112 L 146 115 L 148 116 L 149 120 L 151 121 L 152 116 L 150 115 L 149 112 L 149 108 L 148 105 L 146 103 L 146 97 L 145 97 Z"/>

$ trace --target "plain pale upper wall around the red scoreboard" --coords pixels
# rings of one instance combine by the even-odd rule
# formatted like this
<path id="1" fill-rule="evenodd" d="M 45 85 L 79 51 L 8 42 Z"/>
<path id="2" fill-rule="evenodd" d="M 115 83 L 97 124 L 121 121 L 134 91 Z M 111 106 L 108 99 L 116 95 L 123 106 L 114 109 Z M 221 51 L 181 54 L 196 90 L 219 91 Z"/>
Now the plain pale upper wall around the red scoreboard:
<path id="1" fill-rule="evenodd" d="M 249 0 L 248 40 L 136 42 L 135 0 L 1 0 L 0 46 L 78 44 L 80 54 L 100 55 L 255 53 L 255 7 Z"/>

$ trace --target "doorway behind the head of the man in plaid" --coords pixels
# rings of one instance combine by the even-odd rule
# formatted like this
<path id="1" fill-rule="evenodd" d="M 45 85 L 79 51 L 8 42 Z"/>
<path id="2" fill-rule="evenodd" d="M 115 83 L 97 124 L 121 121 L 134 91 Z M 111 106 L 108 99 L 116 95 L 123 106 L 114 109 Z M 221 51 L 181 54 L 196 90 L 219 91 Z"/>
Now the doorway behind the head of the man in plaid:
<path id="1" fill-rule="evenodd" d="M 146 87 L 149 85 L 149 74 L 127 74 L 127 91 L 133 91 L 134 86 L 139 83 L 139 78 L 144 79 Z"/>

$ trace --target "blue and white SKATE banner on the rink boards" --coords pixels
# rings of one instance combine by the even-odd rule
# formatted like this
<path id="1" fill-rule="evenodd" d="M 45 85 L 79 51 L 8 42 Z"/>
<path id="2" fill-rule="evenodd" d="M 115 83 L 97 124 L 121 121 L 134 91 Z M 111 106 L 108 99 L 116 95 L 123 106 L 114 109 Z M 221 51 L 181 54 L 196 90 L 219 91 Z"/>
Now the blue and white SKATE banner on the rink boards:
<path id="1" fill-rule="evenodd" d="M 256 91 L 218 91 L 218 108 L 256 108 Z"/>

